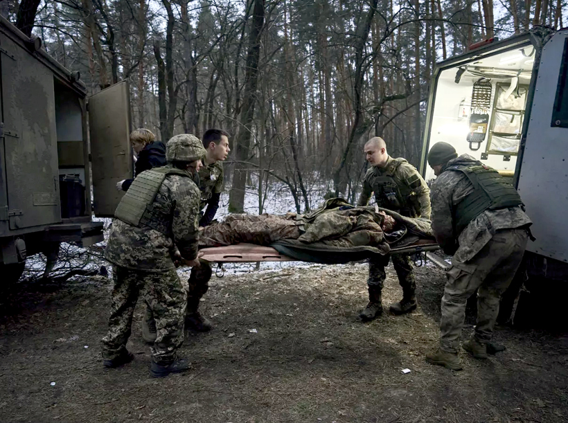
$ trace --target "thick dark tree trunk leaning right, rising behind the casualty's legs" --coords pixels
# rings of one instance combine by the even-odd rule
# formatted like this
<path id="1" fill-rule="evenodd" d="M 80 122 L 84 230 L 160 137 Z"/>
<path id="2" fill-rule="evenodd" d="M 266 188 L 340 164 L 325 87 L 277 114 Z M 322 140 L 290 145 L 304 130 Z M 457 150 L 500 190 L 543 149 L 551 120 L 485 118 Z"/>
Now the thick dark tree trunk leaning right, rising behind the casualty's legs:
<path id="1" fill-rule="evenodd" d="M 237 136 L 235 170 L 233 186 L 229 194 L 229 212 L 242 213 L 245 210 L 245 186 L 247 168 L 243 162 L 249 159 L 251 129 L 256 103 L 256 87 L 258 84 L 258 58 L 260 57 L 260 37 L 263 33 L 265 19 L 265 1 L 254 0 L 251 28 L 249 32 L 249 51 L 247 53 L 247 70 L 245 72 L 245 91 L 242 98 L 240 128 Z"/>

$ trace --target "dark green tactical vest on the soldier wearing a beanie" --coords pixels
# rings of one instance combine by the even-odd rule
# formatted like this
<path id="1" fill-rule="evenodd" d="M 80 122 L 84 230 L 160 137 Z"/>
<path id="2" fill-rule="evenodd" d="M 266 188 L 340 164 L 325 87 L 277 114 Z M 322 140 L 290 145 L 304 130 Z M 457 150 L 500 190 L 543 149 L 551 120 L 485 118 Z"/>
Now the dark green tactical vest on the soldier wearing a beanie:
<path id="1" fill-rule="evenodd" d="M 454 208 L 456 235 L 459 235 L 473 219 L 485 210 L 499 210 L 523 204 L 517 190 L 511 184 L 506 183 L 495 169 L 479 164 L 455 165 L 447 170 L 462 172 L 474 188 L 474 191 Z"/>

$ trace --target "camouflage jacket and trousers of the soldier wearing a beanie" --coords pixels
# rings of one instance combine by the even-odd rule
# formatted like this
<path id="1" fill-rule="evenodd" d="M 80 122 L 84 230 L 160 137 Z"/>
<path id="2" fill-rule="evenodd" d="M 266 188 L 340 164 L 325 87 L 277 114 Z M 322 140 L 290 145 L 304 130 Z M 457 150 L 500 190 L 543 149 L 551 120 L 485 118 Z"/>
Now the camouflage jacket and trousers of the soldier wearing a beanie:
<path id="1" fill-rule="evenodd" d="M 432 184 L 432 228 L 438 244 L 454 254 L 442 298 L 440 348 L 456 353 L 468 298 L 477 294 L 477 325 L 474 339 L 487 344 L 499 312 L 499 299 L 520 265 L 531 219 L 516 206 L 485 210 L 456 233 L 454 211 L 474 192 L 462 172 L 448 170 L 456 165 L 479 165 L 468 154 L 450 160 Z"/>

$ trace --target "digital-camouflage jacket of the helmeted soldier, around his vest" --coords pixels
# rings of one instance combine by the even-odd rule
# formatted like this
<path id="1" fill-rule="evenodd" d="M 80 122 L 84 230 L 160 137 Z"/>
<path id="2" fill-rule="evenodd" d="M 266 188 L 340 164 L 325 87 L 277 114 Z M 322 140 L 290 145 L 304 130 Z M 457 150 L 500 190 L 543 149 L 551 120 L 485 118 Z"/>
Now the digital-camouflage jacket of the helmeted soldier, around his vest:
<path id="1" fill-rule="evenodd" d="M 199 188 L 190 177 L 170 174 L 152 204 L 172 217 L 172 237 L 148 226 L 136 227 L 114 219 L 105 258 L 118 266 L 151 273 L 175 269 L 175 247 L 186 260 L 197 257 Z"/>

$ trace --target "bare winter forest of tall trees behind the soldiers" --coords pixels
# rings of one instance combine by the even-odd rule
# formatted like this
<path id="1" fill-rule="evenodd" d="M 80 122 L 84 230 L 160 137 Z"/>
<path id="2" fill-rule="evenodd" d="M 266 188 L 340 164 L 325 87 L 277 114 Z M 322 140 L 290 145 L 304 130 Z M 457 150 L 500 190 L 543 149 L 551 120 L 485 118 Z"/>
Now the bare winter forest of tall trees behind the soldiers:
<path id="1" fill-rule="evenodd" d="M 220 127 L 229 211 L 355 202 L 362 146 L 418 166 L 436 62 L 483 39 L 564 26 L 557 0 L 0 0 L 0 13 L 96 93 L 130 83 L 132 127 L 167 141 Z"/>

